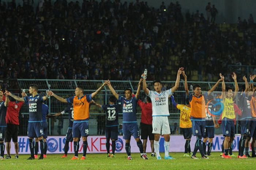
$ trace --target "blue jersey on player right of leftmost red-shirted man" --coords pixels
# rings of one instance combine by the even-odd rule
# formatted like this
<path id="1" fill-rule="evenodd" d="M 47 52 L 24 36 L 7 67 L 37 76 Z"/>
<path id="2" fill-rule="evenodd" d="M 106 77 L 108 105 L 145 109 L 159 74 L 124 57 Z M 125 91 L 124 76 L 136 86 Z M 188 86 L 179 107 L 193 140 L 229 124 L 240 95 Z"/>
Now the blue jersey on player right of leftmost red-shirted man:
<path id="1" fill-rule="evenodd" d="M 42 121 L 42 103 L 44 102 L 42 95 L 24 97 L 26 104 L 29 105 L 29 122 Z"/>

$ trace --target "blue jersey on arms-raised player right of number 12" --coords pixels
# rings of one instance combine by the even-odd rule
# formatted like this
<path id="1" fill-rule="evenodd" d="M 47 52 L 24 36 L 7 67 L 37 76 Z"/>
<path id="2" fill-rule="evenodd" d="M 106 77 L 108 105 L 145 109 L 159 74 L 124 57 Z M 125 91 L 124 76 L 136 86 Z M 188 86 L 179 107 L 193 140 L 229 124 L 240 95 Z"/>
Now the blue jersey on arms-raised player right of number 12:
<path id="1" fill-rule="evenodd" d="M 133 97 L 129 100 L 119 95 L 118 101 L 121 102 L 121 107 L 123 107 L 123 123 L 135 123 L 137 122 L 137 102 L 138 99 Z"/>

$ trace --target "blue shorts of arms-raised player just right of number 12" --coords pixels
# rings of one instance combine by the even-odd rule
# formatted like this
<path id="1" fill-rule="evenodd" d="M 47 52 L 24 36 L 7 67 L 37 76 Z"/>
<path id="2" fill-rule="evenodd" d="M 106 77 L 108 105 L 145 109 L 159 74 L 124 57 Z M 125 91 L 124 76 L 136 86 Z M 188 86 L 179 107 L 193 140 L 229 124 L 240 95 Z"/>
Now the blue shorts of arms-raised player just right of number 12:
<path id="1" fill-rule="evenodd" d="M 131 140 L 131 136 L 135 139 L 140 137 L 138 124 L 136 123 L 123 123 L 123 139 Z"/>

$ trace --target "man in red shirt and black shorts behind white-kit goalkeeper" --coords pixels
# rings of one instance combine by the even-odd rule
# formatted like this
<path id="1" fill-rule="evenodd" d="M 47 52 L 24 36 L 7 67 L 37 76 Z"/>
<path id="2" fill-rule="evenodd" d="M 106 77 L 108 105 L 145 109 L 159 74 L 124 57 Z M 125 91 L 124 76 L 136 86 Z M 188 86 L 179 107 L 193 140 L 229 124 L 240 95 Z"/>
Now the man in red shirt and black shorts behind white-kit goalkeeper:
<path id="1" fill-rule="evenodd" d="M 152 103 L 151 99 L 147 97 L 147 102 L 144 103 L 140 99 L 138 100 L 138 105 L 141 108 L 141 139 L 143 139 L 143 152 L 146 153 L 147 148 L 147 137 L 150 140 L 151 145 L 151 156 L 155 156 L 154 153 L 154 134 L 152 133 Z"/>

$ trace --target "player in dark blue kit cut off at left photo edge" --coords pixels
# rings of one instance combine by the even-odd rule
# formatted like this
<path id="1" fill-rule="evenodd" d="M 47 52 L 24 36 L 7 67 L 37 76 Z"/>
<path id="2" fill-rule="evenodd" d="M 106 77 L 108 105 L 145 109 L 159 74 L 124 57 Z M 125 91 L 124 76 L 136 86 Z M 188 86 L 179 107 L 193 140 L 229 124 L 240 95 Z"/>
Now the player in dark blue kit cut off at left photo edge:
<path id="1" fill-rule="evenodd" d="M 5 116 L 7 112 L 7 102 L 3 101 L 4 94 L 0 91 L 0 159 L 4 159 L 4 135 L 6 130 Z"/>

